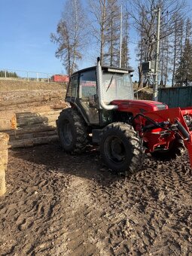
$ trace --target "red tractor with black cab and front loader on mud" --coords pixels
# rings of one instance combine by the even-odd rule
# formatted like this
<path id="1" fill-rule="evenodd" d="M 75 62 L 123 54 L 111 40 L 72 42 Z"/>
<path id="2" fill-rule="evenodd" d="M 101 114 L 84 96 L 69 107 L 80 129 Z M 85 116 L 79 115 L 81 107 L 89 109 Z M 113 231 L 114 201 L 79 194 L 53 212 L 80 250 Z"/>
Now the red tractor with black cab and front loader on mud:
<path id="1" fill-rule="evenodd" d="M 75 72 L 64 109 L 56 120 L 62 148 L 71 154 L 98 144 L 106 166 L 137 172 L 145 153 L 170 159 L 187 148 L 192 166 L 192 108 L 168 108 L 161 102 L 135 100 L 132 69 L 97 66 Z"/>

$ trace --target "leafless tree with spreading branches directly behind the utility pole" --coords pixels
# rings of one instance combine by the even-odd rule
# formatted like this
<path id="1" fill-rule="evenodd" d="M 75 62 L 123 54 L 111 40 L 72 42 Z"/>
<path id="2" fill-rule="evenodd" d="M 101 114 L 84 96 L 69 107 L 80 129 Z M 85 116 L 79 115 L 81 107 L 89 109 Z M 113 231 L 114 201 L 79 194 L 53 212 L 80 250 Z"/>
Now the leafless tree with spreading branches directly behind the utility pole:
<path id="1" fill-rule="evenodd" d="M 160 40 L 172 35 L 175 29 L 175 14 L 180 13 L 177 17 L 177 24 L 180 24 L 182 15 L 184 15 L 185 0 L 133 0 L 130 1 L 130 16 L 143 40 L 145 39 L 145 59 L 155 59 L 156 47 L 156 30 L 157 30 L 157 8 L 161 8 L 162 19 L 160 29 Z M 164 15 L 168 15 L 168 19 L 163 19 Z M 166 26 L 166 29 L 163 29 Z M 163 33 L 162 33 L 163 32 Z M 144 41 L 141 42 L 141 45 Z M 141 72 L 141 69 L 139 69 Z M 142 78 L 142 75 L 139 75 Z M 142 82 L 140 81 L 140 84 Z"/>

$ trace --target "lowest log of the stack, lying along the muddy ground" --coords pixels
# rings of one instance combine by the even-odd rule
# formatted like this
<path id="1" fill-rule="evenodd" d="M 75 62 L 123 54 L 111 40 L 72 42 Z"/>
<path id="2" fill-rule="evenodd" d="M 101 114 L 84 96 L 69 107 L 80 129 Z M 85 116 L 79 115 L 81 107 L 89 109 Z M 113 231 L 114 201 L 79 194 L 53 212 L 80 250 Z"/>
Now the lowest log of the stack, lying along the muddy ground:
<path id="1" fill-rule="evenodd" d="M 23 139 L 20 141 L 14 141 L 9 142 L 9 145 L 11 145 L 11 148 L 27 148 L 27 147 L 33 147 L 35 145 L 40 144 L 47 144 L 50 142 L 57 142 L 58 136 L 47 136 L 47 137 L 41 137 L 41 138 L 33 138 L 33 139 Z"/>

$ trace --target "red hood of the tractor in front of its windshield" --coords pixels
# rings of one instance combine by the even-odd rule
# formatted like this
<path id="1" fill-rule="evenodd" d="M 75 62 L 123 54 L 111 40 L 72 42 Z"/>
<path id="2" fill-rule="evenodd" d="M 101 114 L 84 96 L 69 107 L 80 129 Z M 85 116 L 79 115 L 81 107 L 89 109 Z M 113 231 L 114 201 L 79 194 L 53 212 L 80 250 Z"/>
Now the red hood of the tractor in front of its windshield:
<path id="1" fill-rule="evenodd" d="M 139 111 L 144 113 L 147 111 L 157 111 L 167 109 L 168 106 L 162 102 L 154 102 L 152 100 L 139 100 L 139 99 L 126 99 L 126 100 L 113 100 L 112 105 L 117 105 L 118 111 L 132 112 Z"/>

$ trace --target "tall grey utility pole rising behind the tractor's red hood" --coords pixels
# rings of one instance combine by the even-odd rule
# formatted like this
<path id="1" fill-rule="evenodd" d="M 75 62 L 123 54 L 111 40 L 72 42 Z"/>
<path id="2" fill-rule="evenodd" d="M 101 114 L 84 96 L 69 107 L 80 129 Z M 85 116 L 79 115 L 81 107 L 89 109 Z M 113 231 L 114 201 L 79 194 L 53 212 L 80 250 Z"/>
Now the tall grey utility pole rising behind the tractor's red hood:
<path id="1" fill-rule="evenodd" d="M 158 97 L 158 71 L 159 71 L 159 55 L 160 55 L 160 7 L 154 10 L 157 12 L 157 48 L 154 65 L 154 92 L 153 99 L 157 101 Z"/>

